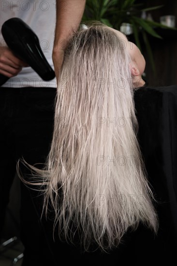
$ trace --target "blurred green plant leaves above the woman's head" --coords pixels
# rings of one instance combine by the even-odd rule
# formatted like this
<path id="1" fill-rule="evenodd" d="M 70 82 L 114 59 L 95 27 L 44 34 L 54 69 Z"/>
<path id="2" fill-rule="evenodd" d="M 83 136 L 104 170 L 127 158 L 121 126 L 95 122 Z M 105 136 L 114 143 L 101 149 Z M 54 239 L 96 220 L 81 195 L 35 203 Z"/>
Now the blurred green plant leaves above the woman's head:
<path id="1" fill-rule="evenodd" d="M 145 8 L 144 3 L 137 3 L 136 0 L 86 0 L 85 12 L 82 17 L 82 22 L 86 21 L 100 21 L 103 24 L 120 30 L 122 23 L 129 23 L 133 27 L 133 35 L 135 44 L 141 49 L 140 36 L 142 36 L 145 44 L 148 57 L 151 63 L 152 70 L 155 74 L 155 65 L 153 53 L 149 44 L 149 35 L 155 38 L 162 37 L 156 32 L 157 28 L 173 29 L 148 20 L 142 17 L 143 12 L 151 12 L 155 9 L 162 8 L 163 5 Z"/>

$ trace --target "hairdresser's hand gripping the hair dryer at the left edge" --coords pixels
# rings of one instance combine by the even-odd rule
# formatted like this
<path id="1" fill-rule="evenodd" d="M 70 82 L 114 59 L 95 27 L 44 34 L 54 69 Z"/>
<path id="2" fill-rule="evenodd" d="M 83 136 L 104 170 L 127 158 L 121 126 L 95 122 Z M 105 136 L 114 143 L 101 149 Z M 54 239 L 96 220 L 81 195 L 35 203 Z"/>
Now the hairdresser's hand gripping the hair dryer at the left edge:
<path id="1" fill-rule="evenodd" d="M 28 64 L 15 57 L 7 46 L 0 46 L 0 74 L 13 77 L 22 70 L 22 67 L 27 66 Z"/>

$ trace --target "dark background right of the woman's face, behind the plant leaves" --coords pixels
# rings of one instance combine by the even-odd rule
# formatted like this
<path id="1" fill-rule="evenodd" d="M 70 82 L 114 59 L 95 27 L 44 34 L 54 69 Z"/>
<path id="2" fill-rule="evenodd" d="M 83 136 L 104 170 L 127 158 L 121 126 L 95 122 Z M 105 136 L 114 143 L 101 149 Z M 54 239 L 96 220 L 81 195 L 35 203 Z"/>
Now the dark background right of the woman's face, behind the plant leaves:
<path id="1" fill-rule="evenodd" d="M 162 8 L 147 12 L 151 14 L 155 22 L 160 23 L 160 16 L 175 15 L 177 27 L 177 1 L 176 0 L 139 0 L 138 3 L 145 2 L 146 7 L 164 5 Z M 158 39 L 149 36 L 150 46 L 153 51 L 156 76 L 154 76 L 146 47 L 142 45 L 142 53 L 146 59 L 146 80 L 149 86 L 170 86 L 177 84 L 177 31 L 166 29 L 154 29 L 163 38 Z"/>

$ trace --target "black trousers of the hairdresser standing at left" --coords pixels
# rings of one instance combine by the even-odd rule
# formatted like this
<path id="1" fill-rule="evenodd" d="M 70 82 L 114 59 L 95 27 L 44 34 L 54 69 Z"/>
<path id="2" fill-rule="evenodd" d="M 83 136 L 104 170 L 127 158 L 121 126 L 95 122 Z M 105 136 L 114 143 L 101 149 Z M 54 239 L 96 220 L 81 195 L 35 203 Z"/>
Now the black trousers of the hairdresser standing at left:
<path id="1" fill-rule="evenodd" d="M 17 161 L 24 158 L 32 165 L 45 163 L 53 133 L 55 96 L 55 88 L 0 88 L 0 231 Z M 21 183 L 24 266 L 47 265 L 47 260 L 51 265 L 52 260 L 40 220 L 43 201 L 37 193 Z"/>

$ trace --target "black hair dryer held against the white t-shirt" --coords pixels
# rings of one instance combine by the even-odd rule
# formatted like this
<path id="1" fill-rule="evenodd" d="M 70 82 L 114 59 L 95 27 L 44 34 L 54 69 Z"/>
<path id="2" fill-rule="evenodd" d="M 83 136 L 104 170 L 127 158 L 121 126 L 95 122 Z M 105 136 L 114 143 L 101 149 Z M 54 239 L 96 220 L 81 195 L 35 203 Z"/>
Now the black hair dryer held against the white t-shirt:
<path id="1" fill-rule="evenodd" d="M 20 18 L 5 21 L 1 28 L 2 36 L 14 55 L 26 62 L 43 80 L 55 78 L 55 72 L 41 50 L 39 39 L 33 30 Z M 0 74 L 0 86 L 9 77 Z"/>

